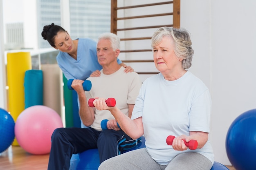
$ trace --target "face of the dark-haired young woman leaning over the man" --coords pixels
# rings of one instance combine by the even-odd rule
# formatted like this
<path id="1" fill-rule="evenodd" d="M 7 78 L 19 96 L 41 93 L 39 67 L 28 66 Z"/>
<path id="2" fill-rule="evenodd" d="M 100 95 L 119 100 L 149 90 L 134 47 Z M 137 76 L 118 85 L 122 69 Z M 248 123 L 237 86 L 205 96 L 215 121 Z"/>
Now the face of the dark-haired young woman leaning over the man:
<path id="1" fill-rule="evenodd" d="M 66 31 L 58 32 L 54 38 L 54 42 L 54 48 L 59 51 L 71 53 L 74 50 L 74 43 Z"/>

